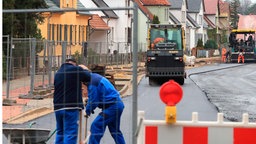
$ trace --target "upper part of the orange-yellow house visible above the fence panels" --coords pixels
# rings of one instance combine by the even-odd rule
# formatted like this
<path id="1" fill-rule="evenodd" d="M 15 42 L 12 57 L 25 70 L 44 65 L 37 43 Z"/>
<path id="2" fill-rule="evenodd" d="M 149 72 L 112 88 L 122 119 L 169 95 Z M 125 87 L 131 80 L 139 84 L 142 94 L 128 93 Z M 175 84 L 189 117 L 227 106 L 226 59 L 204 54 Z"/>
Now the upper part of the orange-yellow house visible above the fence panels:
<path id="1" fill-rule="evenodd" d="M 70 9 L 83 8 L 79 0 L 58 1 L 45 0 L 49 9 Z M 38 25 L 44 39 L 53 42 L 55 55 L 62 55 L 62 42 L 67 42 L 67 55 L 72 55 L 76 51 L 81 53 L 82 43 L 86 41 L 86 27 L 88 19 L 91 17 L 89 12 L 58 12 L 43 13 L 44 23 Z M 43 52 L 40 53 L 42 55 Z"/>

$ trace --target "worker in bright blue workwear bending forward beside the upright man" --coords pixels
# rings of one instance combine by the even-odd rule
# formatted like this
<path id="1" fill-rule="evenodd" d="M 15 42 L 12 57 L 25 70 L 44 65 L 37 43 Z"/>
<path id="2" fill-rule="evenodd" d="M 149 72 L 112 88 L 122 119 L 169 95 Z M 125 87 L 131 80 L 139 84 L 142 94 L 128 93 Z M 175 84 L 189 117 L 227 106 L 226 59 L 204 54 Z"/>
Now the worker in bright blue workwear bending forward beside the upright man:
<path id="1" fill-rule="evenodd" d="M 87 69 L 87 67 L 84 67 L 84 69 Z M 106 127 L 108 127 L 116 144 L 125 144 L 120 130 L 120 119 L 124 104 L 119 92 L 108 79 L 97 73 L 91 73 L 91 81 L 87 84 L 87 88 L 86 115 L 93 114 L 96 108 L 102 110 L 91 124 L 91 135 L 88 144 L 99 144 Z"/>

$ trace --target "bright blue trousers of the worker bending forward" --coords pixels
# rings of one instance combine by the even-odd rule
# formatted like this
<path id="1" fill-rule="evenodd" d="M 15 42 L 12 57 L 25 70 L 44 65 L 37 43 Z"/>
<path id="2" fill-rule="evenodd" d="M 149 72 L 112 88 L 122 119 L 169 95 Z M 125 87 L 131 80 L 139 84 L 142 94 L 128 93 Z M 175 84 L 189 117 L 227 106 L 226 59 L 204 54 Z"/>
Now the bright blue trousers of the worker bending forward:
<path id="1" fill-rule="evenodd" d="M 91 124 L 91 135 L 88 144 L 99 144 L 106 127 L 108 127 L 116 144 L 125 144 L 123 134 L 120 130 L 120 119 L 123 109 L 124 104 L 122 102 L 103 109 Z"/>

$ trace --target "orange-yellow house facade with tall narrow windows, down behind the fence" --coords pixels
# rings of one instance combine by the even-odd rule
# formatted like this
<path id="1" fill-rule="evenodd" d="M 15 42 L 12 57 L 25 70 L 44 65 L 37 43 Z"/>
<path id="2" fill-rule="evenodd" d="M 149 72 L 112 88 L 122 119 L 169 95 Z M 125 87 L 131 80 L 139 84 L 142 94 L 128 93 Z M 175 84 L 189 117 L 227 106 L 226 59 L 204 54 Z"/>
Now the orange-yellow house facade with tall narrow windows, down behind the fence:
<path id="1" fill-rule="evenodd" d="M 79 0 L 45 0 L 48 9 L 65 10 L 84 8 Z M 87 39 L 88 20 L 92 16 L 88 11 L 44 12 L 44 23 L 39 23 L 42 37 L 46 40 L 44 49 L 39 52 L 38 65 L 60 66 L 63 58 L 82 53 L 83 43 Z"/>

